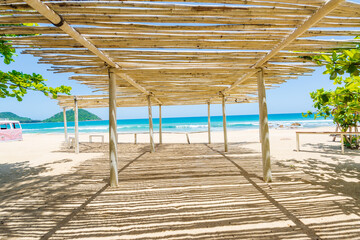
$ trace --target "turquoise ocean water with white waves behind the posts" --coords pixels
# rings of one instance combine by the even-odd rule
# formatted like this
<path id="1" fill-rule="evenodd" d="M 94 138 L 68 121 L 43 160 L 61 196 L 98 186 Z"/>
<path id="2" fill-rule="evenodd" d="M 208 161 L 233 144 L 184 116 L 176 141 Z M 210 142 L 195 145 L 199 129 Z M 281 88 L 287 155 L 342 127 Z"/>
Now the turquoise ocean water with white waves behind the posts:
<path id="1" fill-rule="evenodd" d="M 259 127 L 258 115 L 237 115 L 227 116 L 228 130 L 251 129 Z M 321 126 L 334 126 L 331 119 L 304 118 L 301 113 L 269 114 L 270 128 L 283 125 L 290 127 L 292 123 L 300 123 L 300 128 L 314 128 Z M 159 119 L 154 118 L 154 131 L 159 130 Z M 82 133 L 103 133 L 108 132 L 109 121 L 86 121 L 79 122 L 79 132 Z M 147 132 L 149 130 L 148 119 L 127 119 L 118 120 L 117 129 L 119 133 Z M 23 123 L 23 133 L 62 133 L 64 124 L 60 123 Z M 184 118 L 163 118 L 163 132 L 202 132 L 207 131 L 207 117 L 184 117 Z M 222 116 L 211 117 L 211 130 L 222 131 Z M 74 132 L 74 122 L 68 122 L 68 132 Z"/>

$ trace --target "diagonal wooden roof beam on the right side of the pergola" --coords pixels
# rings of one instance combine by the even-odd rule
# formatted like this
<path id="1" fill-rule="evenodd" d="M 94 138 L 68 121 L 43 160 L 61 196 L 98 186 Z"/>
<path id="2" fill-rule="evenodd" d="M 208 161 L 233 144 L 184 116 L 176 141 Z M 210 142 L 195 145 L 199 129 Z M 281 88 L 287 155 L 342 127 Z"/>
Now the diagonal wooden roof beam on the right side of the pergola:
<path id="1" fill-rule="evenodd" d="M 256 73 L 256 68 L 261 67 L 264 63 L 269 61 L 282 49 L 287 47 L 292 41 L 301 36 L 305 31 L 318 23 L 322 18 L 334 10 L 345 0 L 329 0 L 322 7 L 320 7 L 310 18 L 308 18 L 300 27 L 294 30 L 289 36 L 282 40 L 278 45 L 276 45 L 268 54 L 259 59 L 252 67 L 252 71 L 249 71 L 243 75 L 240 79 L 234 82 L 230 87 L 223 90 L 223 93 L 227 93 L 237 87 L 239 84 L 243 83 Z"/>

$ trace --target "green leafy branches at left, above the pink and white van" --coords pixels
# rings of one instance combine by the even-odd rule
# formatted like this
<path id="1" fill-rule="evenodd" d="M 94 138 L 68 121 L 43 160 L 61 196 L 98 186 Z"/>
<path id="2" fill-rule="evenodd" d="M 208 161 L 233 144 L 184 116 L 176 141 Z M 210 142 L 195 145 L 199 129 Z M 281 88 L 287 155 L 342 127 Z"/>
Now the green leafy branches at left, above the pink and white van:
<path id="1" fill-rule="evenodd" d="M 0 26 L 4 26 L 1 24 Z M 12 25 L 33 25 L 33 24 L 12 24 Z M 4 58 L 5 64 L 14 62 L 15 49 L 11 46 L 11 42 L 1 39 L 1 37 L 14 36 L 12 34 L 0 35 L 0 57 Z M 22 97 L 28 90 L 40 91 L 44 95 L 52 95 L 57 97 L 58 93 L 70 94 L 71 87 L 60 86 L 56 88 L 48 87 L 40 74 L 25 74 L 15 70 L 3 72 L 0 70 L 0 98 L 15 97 L 18 101 L 22 101 Z"/>

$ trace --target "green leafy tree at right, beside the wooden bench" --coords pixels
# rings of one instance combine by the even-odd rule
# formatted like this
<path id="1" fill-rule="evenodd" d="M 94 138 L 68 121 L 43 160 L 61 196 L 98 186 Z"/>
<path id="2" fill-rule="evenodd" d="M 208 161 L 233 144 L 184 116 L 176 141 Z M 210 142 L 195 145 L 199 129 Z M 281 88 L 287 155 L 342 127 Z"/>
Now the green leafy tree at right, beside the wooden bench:
<path id="1" fill-rule="evenodd" d="M 326 66 L 324 74 L 328 74 L 338 87 L 310 93 L 316 112 L 309 111 L 305 116 L 332 117 L 342 132 L 357 131 L 360 123 L 360 46 L 334 51 L 331 55 L 318 55 L 312 60 Z M 359 148 L 358 137 L 350 135 L 344 138 L 347 147 Z"/>

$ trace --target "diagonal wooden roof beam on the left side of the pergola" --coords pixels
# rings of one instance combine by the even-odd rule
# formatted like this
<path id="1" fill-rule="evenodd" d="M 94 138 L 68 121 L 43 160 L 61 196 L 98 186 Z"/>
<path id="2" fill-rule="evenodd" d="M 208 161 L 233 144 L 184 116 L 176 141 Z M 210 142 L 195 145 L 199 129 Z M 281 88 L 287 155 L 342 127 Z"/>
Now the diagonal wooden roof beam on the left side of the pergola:
<path id="1" fill-rule="evenodd" d="M 42 3 L 40 0 L 25 0 L 25 2 L 34 8 L 36 11 L 38 11 L 41 15 L 46 17 L 51 23 L 53 23 L 55 26 L 59 27 L 61 30 L 63 30 L 65 33 L 67 33 L 70 37 L 72 37 L 74 40 L 79 42 L 81 45 L 83 45 L 85 48 L 89 49 L 92 53 L 94 53 L 96 56 L 98 56 L 101 60 L 103 60 L 107 65 L 109 65 L 112 68 L 121 68 L 119 64 L 114 62 L 108 55 L 106 55 L 104 52 L 99 50 L 94 44 L 92 44 L 87 38 L 85 38 L 83 35 L 81 35 L 78 31 L 76 31 L 73 27 L 71 27 L 63 18 L 61 15 L 54 12 L 52 9 L 50 9 L 46 4 Z M 124 80 L 128 81 L 127 78 L 123 78 Z M 128 81 L 131 85 L 136 87 L 140 90 L 139 87 L 141 87 L 139 84 L 135 83 L 134 81 Z M 143 88 L 143 87 L 141 87 Z M 141 90 L 142 91 L 142 90 Z M 145 90 L 146 91 L 146 90 Z M 147 92 L 147 91 L 146 91 Z M 147 94 L 148 95 L 148 94 Z"/>

